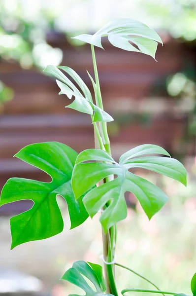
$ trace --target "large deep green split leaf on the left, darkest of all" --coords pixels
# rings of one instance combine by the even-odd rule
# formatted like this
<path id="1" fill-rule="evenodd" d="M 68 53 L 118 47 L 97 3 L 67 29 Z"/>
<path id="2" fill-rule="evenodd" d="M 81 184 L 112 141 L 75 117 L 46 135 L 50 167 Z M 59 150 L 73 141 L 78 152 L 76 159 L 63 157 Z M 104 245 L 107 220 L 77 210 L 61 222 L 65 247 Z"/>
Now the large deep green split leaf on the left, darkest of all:
<path id="1" fill-rule="evenodd" d="M 77 157 L 72 148 L 58 142 L 38 143 L 23 148 L 15 156 L 46 172 L 51 176 L 52 182 L 11 178 L 4 185 L 0 206 L 25 199 L 34 202 L 29 211 L 10 220 L 12 249 L 25 242 L 51 237 L 63 230 L 57 194 L 66 200 L 71 228 L 77 227 L 88 218 L 82 197 L 76 201 L 71 188 L 71 175 Z"/>

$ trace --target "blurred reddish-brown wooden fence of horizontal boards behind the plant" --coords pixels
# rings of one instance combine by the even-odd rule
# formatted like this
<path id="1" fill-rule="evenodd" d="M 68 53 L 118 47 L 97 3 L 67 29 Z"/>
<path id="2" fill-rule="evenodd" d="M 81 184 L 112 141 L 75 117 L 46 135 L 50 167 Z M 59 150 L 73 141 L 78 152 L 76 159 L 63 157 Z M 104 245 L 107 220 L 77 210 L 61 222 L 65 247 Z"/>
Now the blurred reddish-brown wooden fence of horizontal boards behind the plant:
<path id="1" fill-rule="evenodd" d="M 165 77 L 193 59 L 193 53 L 183 44 L 164 38 L 164 46 L 158 46 L 158 62 L 112 47 L 106 41 L 105 50 L 96 49 L 104 107 L 116 118 L 108 125 L 115 157 L 144 143 L 161 145 L 171 153 L 179 148 L 186 114 L 176 113 L 175 103 L 165 96 L 162 85 Z M 63 49 L 62 64 L 73 68 L 92 90 L 86 73 L 88 70 L 93 75 L 90 46 L 72 47 L 63 36 L 51 37 L 50 43 Z M 2 61 L 0 79 L 15 92 L 13 101 L 6 103 L 0 115 L 0 187 L 10 177 L 49 180 L 46 174 L 13 158 L 26 145 L 59 141 L 78 152 L 93 148 L 90 116 L 64 108 L 68 99 L 58 96 L 54 79 L 35 68 L 23 70 L 17 64 Z M 140 120 L 135 120 L 133 114 L 140 115 Z M 146 114 L 151 117 L 148 123 Z M 16 205 L 14 209 L 17 212 Z"/>

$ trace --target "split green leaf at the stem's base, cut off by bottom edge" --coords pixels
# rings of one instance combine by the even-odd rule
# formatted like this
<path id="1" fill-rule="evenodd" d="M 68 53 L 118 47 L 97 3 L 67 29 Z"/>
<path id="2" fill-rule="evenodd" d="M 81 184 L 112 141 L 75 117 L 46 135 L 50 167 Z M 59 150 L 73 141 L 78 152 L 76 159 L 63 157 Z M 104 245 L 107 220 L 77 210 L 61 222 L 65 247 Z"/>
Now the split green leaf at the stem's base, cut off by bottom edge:
<path id="1" fill-rule="evenodd" d="M 94 291 L 85 278 L 85 276 L 90 282 L 95 286 L 96 291 Z M 85 296 L 101 296 L 106 290 L 106 283 L 103 278 L 102 267 L 98 264 L 76 261 L 73 266 L 69 268 L 62 277 L 63 280 L 70 282 L 73 285 L 81 288 L 85 292 Z M 106 294 L 111 295 L 111 294 Z M 71 296 L 78 296 L 72 294 Z"/>

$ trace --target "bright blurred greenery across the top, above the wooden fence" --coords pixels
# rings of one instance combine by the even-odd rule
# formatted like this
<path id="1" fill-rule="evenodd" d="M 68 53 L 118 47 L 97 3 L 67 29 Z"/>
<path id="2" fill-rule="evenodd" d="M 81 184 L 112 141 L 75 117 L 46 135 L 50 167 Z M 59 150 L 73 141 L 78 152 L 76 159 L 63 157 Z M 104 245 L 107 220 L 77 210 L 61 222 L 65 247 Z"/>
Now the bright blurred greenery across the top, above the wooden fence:
<path id="1" fill-rule="evenodd" d="M 85 33 L 111 19 L 135 15 L 174 37 L 196 39 L 194 0 L 1 0 L 0 57 L 17 60 L 23 68 L 57 65 L 62 51 L 47 43 L 48 32 Z"/>

